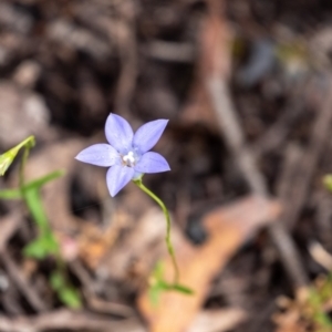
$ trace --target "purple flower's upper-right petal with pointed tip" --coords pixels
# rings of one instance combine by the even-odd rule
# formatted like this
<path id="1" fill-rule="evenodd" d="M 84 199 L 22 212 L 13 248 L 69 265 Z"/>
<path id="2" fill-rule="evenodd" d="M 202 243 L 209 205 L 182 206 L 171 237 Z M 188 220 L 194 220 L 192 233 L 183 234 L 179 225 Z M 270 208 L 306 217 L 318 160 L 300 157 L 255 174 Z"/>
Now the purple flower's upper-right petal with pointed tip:
<path id="1" fill-rule="evenodd" d="M 159 141 L 168 120 L 155 120 L 141 126 L 134 135 L 133 146 L 144 154 Z"/>

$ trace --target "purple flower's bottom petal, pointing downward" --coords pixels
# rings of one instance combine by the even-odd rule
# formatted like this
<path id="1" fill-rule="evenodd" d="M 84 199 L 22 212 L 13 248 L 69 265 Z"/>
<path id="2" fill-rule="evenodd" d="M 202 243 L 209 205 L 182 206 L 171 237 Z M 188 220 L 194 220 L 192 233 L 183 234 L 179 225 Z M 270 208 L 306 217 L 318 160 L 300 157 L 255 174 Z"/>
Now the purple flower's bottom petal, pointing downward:
<path id="1" fill-rule="evenodd" d="M 107 170 L 106 183 L 112 197 L 114 197 L 132 178 L 134 168 L 115 165 Z"/>

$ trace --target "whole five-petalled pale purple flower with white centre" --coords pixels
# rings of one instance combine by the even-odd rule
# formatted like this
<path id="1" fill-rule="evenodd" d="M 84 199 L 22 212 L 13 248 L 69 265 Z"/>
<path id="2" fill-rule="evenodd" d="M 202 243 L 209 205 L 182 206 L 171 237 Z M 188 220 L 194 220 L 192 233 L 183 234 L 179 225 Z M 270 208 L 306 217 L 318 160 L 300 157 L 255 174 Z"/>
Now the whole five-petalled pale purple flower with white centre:
<path id="1" fill-rule="evenodd" d="M 166 159 L 148 152 L 160 138 L 168 120 L 156 120 L 141 126 L 134 134 L 126 120 L 110 114 L 105 135 L 110 144 L 95 144 L 83 149 L 77 160 L 110 167 L 106 183 L 114 197 L 129 180 L 138 179 L 145 173 L 170 170 Z"/>

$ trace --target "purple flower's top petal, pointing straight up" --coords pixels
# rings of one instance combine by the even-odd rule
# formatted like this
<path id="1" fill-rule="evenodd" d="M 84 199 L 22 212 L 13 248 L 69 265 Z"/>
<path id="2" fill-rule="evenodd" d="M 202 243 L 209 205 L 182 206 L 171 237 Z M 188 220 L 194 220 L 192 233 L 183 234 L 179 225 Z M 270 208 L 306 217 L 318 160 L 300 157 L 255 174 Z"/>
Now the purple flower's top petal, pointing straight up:
<path id="1" fill-rule="evenodd" d="M 120 153 L 126 154 L 133 142 L 133 129 L 122 116 L 111 113 L 106 120 L 105 135 L 108 143 Z"/>

